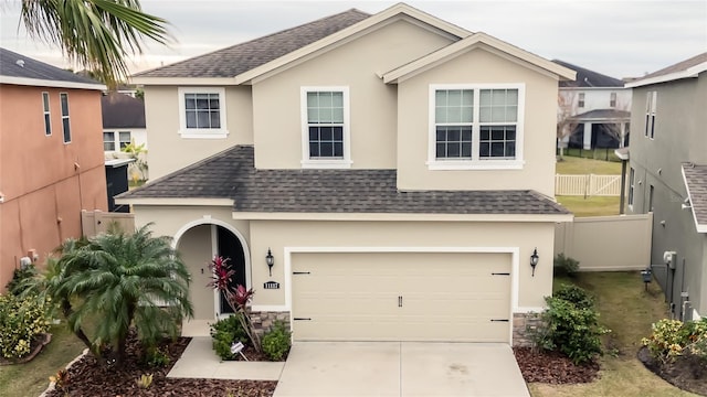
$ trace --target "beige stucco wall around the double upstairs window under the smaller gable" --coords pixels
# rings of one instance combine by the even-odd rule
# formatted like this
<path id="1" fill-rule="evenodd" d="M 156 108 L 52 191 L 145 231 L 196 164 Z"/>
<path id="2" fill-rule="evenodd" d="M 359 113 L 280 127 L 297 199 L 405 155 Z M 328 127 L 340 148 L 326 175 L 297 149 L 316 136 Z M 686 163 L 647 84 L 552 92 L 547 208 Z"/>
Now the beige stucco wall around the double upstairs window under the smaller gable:
<path id="1" fill-rule="evenodd" d="M 430 85 L 485 83 L 525 84 L 523 169 L 430 171 Z M 557 78 L 482 49 L 403 81 L 398 87 L 398 187 L 532 189 L 553 196 L 557 84 Z"/>

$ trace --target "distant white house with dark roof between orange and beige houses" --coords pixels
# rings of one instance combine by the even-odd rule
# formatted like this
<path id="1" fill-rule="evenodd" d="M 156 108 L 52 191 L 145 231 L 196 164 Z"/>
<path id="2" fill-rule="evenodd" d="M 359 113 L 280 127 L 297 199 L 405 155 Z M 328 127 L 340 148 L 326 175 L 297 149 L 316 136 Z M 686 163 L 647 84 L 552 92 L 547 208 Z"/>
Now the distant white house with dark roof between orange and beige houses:
<path id="1" fill-rule="evenodd" d="M 103 150 L 106 160 L 125 159 L 129 155 L 123 149 L 134 142 L 147 150 L 145 129 L 145 103 L 123 93 L 108 93 L 101 99 L 103 112 Z M 147 163 L 147 153 L 140 155 Z M 147 169 L 140 170 L 135 163 L 129 167 L 129 178 L 146 180 Z"/>

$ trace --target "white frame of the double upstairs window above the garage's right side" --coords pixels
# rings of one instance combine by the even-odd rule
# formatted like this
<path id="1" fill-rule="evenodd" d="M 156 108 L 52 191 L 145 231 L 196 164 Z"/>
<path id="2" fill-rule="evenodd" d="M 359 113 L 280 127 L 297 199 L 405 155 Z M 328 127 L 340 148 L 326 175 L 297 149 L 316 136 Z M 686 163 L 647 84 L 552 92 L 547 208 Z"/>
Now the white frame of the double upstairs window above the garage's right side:
<path id="1" fill-rule="evenodd" d="M 443 159 L 436 158 L 436 124 L 435 124 L 435 93 L 440 89 L 473 89 L 474 90 L 474 122 L 472 124 L 472 159 Z M 518 115 L 516 121 L 516 157 L 515 159 L 479 159 L 481 142 L 481 90 L 482 89 L 517 89 Z M 429 93 L 429 133 L 428 133 L 428 169 L 431 171 L 444 170 L 521 170 L 525 164 L 524 126 L 525 126 L 525 83 L 513 84 L 431 84 Z"/>

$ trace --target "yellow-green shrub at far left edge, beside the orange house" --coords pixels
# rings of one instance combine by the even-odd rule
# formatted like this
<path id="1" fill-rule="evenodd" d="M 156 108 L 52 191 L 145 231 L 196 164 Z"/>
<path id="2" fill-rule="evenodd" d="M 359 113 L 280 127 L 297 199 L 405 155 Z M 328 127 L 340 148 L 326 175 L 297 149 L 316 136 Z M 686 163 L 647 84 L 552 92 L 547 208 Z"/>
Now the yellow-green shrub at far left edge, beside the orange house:
<path id="1" fill-rule="evenodd" d="M 0 296 L 0 354 L 21 358 L 31 352 L 32 341 L 49 330 L 44 305 L 35 297 Z"/>

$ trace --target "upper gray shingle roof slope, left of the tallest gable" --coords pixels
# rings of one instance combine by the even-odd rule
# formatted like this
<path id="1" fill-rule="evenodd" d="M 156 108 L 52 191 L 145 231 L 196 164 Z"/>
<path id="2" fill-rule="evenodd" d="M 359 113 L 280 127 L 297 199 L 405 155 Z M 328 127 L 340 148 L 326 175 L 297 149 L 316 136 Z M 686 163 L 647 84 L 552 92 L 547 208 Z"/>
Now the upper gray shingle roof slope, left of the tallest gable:
<path id="1" fill-rule="evenodd" d="M 351 9 L 296 28 L 287 29 L 242 44 L 192 57 L 136 77 L 234 77 L 312 44 L 370 14 Z"/>

